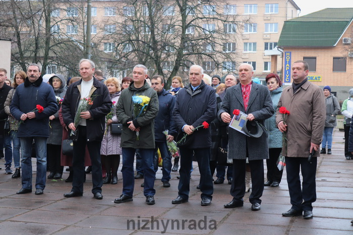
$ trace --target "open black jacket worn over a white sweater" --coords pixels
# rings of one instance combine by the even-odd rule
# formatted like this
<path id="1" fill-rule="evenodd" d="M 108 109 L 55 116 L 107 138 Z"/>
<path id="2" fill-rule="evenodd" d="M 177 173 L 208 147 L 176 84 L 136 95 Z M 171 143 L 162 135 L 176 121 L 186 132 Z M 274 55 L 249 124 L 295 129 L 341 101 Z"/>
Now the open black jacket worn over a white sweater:
<path id="1" fill-rule="evenodd" d="M 81 99 L 81 83 L 73 83 L 68 90 L 62 104 L 63 119 L 66 126 L 74 123 L 77 107 Z M 104 134 L 105 115 L 110 112 L 112 102 L 110 101 L 108 88 L 93 77 L 93 86 L 90 91 L 93 105 L 88 110 L 91 118 L 86 120 L 87 141 L 101 141 Z M 79 133 L 80 134 L 80 133 Z"/>

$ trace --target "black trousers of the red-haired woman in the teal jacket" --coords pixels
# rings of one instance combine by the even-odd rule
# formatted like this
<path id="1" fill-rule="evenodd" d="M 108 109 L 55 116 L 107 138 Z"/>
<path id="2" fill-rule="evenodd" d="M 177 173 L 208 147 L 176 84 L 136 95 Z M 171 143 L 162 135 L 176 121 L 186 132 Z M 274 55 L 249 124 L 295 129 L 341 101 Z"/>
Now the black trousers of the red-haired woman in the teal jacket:
<path id="1" fill-rule="evenodd" d="M 268 153 L 270 158 L 266 159 L 267 166 L 267 180 L 270 182 L 281 183 L 283 170 L 280 171 L 277 168 L 277 160 L 282 148 L 269 148 Z"/>

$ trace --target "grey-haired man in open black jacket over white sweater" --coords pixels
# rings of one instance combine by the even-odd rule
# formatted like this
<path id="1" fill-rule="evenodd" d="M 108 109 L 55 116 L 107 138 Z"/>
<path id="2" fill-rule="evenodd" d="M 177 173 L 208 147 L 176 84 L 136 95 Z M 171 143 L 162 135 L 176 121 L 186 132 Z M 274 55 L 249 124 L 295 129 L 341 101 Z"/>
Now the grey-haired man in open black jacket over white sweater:
<path id="1" fill-rule="evenodd" d="M 88 147 L 92 163 L 92 193 L 95 199 L 102 199 L 102 165 L 100 162 L 100 146 L 104 134 L 105 116 L 110 112 L 111 100 L 108 88 L 93 76 L 94 63 L 89 59 L 81 59 L 79 63 L 82 80 L 72 84 L 65 95 L 62 113 L 66 126 L 77 131 L 74 141 L 73 171 L 74 180 L 70 193 L 64 197 L 78 197 L 83 194 L 85 174 L 85 149 Z M 77 113 L 77 108 L 84 98 L 93 100 L 87 111 Z M 75 126 L 75 115 L 81 120 Z"/>

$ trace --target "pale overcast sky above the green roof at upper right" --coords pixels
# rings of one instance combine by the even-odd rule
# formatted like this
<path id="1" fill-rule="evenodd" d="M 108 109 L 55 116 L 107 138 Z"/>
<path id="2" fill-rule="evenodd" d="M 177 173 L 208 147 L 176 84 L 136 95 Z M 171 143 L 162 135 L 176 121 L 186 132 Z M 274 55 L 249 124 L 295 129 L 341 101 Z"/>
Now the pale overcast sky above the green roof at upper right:
<path id="1" fill-rule="evenodd" d="M 304 16 L 325 8 L 353 8 L 352 0 L 293 0 L 302 10 L 299 16 Z"/>

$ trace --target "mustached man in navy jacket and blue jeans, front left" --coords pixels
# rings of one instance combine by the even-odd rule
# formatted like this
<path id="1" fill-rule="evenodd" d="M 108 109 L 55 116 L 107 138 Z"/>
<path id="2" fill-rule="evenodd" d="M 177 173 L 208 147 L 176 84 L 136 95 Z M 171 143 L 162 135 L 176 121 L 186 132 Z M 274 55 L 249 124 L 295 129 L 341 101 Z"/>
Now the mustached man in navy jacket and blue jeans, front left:
<path id="1" fill-rule="evenodd" d="M 44 109 L 38 109 L 37 105 Z M 46 177 L 46 141 L 49 137 L 49 116 L 57 111 L 53 88 L 40 76 L 40 68 L 33 63 L 27 67 L 27 77 L 17 87 L 10 105 L 14 118 L 23 123 L 19 126 L 17 137 L 21 141 L 22 189 L 17 194 L 32 192 L 32 143 L 35 142 L 37 157 L 36 195 L 43 194 Z"/>

